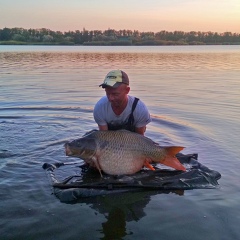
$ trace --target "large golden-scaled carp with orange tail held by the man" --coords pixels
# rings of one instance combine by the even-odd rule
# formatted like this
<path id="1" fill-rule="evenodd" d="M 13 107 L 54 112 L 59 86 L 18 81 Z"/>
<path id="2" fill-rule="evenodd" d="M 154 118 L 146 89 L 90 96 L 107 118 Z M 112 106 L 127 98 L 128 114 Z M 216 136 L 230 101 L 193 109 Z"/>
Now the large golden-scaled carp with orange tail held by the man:
<path id="1" fill-rule="evenodd" d="M 110 175 L 133 174 L 156 162 L 186 171 L 175 155 L 183 147 L 161 147 L 151 139 L 127 130 L 93 130 L 65 144 L 67 156 L 83 159 Z"/>

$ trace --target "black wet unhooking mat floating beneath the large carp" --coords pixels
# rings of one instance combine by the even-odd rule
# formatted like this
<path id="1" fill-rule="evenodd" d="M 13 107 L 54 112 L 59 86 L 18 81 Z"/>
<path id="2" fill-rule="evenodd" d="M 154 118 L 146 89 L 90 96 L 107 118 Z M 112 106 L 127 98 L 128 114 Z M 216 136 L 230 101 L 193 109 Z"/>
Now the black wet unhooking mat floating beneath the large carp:
<path id="1" fill-rule="evenodd" d="M 221 174 L 198 162 L 198 154 L 178 154 L 177 158 L 187 168 L 186 172 L 159 169 L 159 164 L 153 164 L 155 171 L 143 169 L 136 174 L 122 176 L 103 174 L 101 178 L 97 170 L 84 164 L 44 163 L 42 167 L 50 179 L 53 193 L 62 202 L 122 192 L 207 189 L 218 186 Z M 67 169 L 77 174 L 58 180 L 62 178 L 57 176 L 60 169 L 62 175 L 68 173 Z"/>

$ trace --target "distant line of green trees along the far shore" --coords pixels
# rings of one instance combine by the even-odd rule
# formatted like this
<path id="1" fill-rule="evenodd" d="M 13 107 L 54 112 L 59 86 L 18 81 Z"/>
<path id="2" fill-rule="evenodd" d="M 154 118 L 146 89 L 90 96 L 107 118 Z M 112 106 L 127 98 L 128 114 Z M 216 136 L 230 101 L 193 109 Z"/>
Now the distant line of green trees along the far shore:
<path id="1" fill-rule="evenodd" d="M 56 45 L 202 45 L 240 44 L 239 33 L 137 30 L 52 31 L 50 29 L 0 29 L 0 44 L 56 44 Z"/>

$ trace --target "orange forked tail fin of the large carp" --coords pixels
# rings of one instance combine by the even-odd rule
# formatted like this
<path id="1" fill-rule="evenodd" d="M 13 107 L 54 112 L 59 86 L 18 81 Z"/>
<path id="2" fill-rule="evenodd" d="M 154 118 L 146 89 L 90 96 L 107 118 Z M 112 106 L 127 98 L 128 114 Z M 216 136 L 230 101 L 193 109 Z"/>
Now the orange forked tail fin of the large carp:
<path id="1" fill-rule="evenodd" d="M 186 168 L 176 158 L 176 154 L 184 149 L 184 147 L 165 147 L 166 158 L 161 162 L 162 164 L 175 168 L 177 170 L 186 171 Z"/>

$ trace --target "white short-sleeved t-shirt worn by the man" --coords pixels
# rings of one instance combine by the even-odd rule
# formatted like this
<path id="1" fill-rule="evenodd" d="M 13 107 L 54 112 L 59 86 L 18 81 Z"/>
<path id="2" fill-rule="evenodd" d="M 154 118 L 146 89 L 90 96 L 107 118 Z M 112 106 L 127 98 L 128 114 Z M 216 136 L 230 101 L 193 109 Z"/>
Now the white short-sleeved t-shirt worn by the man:
<path id="1" fill-rule="evenodd" d="M 116 115 L 107 96 L 102 97 L 95 105 L 93 116 L 98 125 L 125 125 L 129 115 L 132 112 L 132 105 L 135 97 L 128 95 L 128 104 L 120 115 Z M 139 100 L 133 112 L 134 126 L 137 128 L 144 127 L 151 122 L 150 114 L 145 104 Z"/>

